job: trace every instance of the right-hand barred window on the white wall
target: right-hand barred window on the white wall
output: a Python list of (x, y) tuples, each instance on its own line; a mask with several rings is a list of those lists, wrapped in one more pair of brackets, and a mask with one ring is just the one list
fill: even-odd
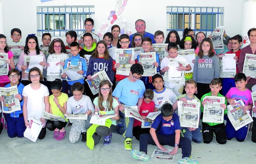
[(223, 7), (167, 6), (167, 33), (178, 31), (182, 36), (185, 28), (210, 35), (215, 27), (224, 25)]

